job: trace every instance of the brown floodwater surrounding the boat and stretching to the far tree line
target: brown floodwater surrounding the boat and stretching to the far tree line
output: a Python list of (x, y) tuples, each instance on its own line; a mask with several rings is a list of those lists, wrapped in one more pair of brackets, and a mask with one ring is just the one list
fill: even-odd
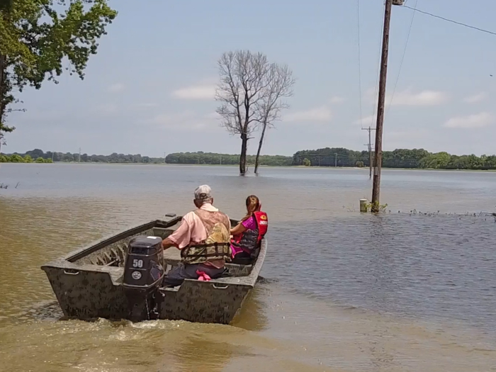
[[(1, 164), (0, 182), (0, 371), (496, 371), (496, 223), (478, 214), (496, 173), (384, 171), (380, 216), (356, 212), (354, 169)], [(204, 183), (230, 217), (256, 193), (271, 219), (232, 325), (58, 320), (40, 265), (185, 213)]]

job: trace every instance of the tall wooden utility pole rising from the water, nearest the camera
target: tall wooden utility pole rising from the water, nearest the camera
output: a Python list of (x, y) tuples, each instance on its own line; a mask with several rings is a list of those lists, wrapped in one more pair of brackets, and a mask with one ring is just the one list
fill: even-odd
[(379, 80), (379, 99), (377, 106), (376, 151), (374, 154), (375, 164), (373, 169), (372, 208), (371, 208), (372, 212), (379, 211), (379, 201), (381, 198), (381, 167), (383, 162), (385, 83), (388, 77), (389, 28), (391, 23), (391, 9), (393, 8), (393, 4), (403, 5), (403, 0), (385, 0), (383, 52), (381, 57), (381, 78)]

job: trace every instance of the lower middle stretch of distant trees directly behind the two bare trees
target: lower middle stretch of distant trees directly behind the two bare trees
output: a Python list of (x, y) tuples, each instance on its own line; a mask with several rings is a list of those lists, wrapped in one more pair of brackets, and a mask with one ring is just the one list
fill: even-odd
[[(247, 164), (254, 165), (255, 155), (247, 155)], [(176, 152), (165, 157), (167, 164), (219, 164), (235, 165), (239, 164), (239, 154), (215, 154), (213, 152)], [(259, 165), (266, 166), (291, 166), (293, 159), (281, 155), (260, 155)]]

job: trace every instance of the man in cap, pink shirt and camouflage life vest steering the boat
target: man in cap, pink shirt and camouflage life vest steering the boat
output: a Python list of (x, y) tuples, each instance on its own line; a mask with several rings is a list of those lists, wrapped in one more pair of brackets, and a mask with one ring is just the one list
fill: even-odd
[(213, 206), (212, 190), (198, 186), (196, 210), (184, 215), (181, 225), (162, 241), (162, 247), (181, 250), (181, 263), (164, 277), (164, 286), (179, 286), (184, 279), (218, 278), (231, 259), (230, 220)]

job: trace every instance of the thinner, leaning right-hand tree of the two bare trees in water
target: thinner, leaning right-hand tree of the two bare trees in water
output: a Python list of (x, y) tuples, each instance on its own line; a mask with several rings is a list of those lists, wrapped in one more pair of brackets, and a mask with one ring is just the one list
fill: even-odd
[(281, 120), (281, 112), (289, 108), (288, 103), (283, 101), (283, 98), (293, 96), (294, 84), (293, 72), (286, 64), (271, 64), (269, 72), (266, 74), (264, 95), (259, 103), (258, 117), (261, 135), (255, 158), (255, 173), (258, 173), (259, 169), (259, 157), (261, 146), (264, 144), (265, 132), (269, 128), (274, 128), (274, 122)]

